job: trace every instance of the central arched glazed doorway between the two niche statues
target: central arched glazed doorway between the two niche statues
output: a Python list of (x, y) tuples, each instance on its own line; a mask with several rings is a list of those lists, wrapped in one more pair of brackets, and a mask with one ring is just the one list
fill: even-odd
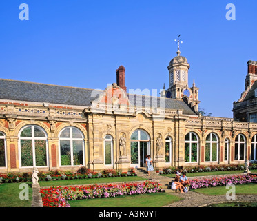
[(143, 130), (136, 130), (130, 137), (131, 163), (134, 167), (145, 166), (146, 155), (150, 155), (150, 137)]

